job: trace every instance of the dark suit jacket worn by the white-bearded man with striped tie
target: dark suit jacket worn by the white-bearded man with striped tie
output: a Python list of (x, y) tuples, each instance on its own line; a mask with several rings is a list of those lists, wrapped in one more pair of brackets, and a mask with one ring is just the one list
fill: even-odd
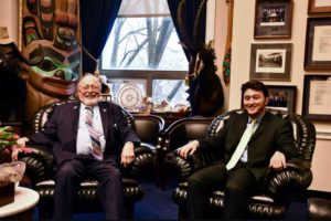
[[(57, 166), (76, 156), (79, 108), (79, 102), (54, 107), (43, 130), (30, 137), (34, 144), (52, 147)], [(127, 124), (120, 106), (100, 102), (99, 110), (106, 139), (104, 158), (116, 157), (118, 159), (126, 141), (132, 141), (135, 146), (140, 144), (139, 137)]]

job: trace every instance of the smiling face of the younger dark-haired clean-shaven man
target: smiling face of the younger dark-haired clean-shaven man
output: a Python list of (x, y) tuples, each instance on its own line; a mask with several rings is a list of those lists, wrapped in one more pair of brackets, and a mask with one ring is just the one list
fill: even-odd
[(266, 110), (268, 97), (265, 97), (261, 91), (247, 88), (243, 96), (244, 108), (252, 118), (261, 116)]

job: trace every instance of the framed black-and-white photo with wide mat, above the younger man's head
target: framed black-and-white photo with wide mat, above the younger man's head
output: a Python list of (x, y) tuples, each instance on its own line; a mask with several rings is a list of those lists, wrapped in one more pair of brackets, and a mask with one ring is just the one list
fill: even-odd
[(252, 44), (250, 80), (290, 81), (292, 44)]

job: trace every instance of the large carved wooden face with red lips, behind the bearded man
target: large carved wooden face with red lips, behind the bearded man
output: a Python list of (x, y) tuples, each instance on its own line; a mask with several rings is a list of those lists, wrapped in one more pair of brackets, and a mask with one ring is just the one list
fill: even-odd
[(54, 48), (50, 41), (38, 40), (25, 48), (23, 55), (30, 60), (39, 56), (39, 44), (42, 45), (43, 60), (35, 66), (26, 65), (31, 85), (51, 96), (74, 94), (79, 76), (81, 52), (61, 50)]

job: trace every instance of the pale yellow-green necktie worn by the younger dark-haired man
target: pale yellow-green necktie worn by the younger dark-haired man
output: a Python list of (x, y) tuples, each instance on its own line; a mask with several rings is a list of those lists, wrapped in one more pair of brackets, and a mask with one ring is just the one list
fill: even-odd
[(246, 127), (246, 130), (244, 131), (244, 134), (242, 136), (242, 139), (241, 139), (236, 150), (234, 151), (234, 154), (232, 155), (229, 161), (226, 165), (227, 170), (231, 170), (232, 168), (234, 168), (234, 166), (236, 166), (237, 161), (242, 157), (242, 155), (245, 151), (245, 148), (246, 148), (246, 146), (247, 146), (253, 133), (254, 133), (255, 125), (256, 125), (256, 119), (252, 119), (252, 122)]

